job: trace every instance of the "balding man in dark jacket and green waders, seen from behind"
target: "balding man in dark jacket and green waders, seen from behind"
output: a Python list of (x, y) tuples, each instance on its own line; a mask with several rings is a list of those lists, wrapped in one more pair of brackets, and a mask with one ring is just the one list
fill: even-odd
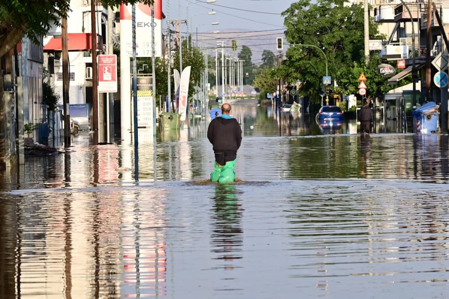
[(222, 115), (216, 117), (208, 129), (208, 139), (215, 153), (215, 170), (211, 173), (211, 181), (221, 184), (234, 181), (237, 149), (241, 144), (240, 125), (229, 116), (230, 112), (230, 105), (223, 104)]

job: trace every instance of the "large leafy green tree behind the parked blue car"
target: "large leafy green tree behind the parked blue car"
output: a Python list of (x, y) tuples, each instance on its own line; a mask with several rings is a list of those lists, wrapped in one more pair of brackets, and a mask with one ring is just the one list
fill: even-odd
[[(364, 35), (360, 29), (364, 24), (363, 5), (345, 6), (343, 0), (318, 0), (316, 3), (300, 0), (292, 3), (282, 15), (288, 42), (319, 47), (328, 59), (328, 75), (337, 81), (337, 85), (348, 79), (354, 61), (364, 58)], [(383, 37), (372, 19), (369, 26), (370, 38)], [(301, 93), (309, 94), (312, 100), (319, 102), (322, 77), (326, 74), (326, 59), (322, 52), (310, 46), (291, 46), (286, 56), (275, 75), (290, 82), (301, 79)]]

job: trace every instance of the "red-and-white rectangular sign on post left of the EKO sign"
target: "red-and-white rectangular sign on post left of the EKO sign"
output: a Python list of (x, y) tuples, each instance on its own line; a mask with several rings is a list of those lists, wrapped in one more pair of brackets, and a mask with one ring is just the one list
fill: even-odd
[(98, 55), (98, 92), (117, 92), (117, 55)]

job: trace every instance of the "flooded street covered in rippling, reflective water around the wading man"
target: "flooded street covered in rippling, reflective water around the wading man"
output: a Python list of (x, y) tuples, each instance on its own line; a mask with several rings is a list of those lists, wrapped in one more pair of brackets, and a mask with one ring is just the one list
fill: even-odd
[(232, 111), (234, 184), (201, 120), (0, 174), (0, 298), (448, 298), (449, 136)]

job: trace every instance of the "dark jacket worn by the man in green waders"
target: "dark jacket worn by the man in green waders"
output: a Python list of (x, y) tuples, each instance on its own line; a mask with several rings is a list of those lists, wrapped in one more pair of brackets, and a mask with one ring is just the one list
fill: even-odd
[(216, 117), (208, 129), (208, 139), (214, 152), (235, 154), (241, 144), (241, 129), (236, 119)]

